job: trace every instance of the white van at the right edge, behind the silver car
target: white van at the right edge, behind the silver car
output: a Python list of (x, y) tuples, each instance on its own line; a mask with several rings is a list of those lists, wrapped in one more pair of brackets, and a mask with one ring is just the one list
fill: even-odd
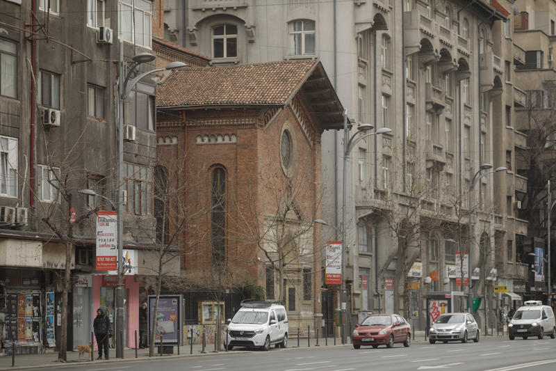
[(550, 306), (543, 306), (542, 301), (525, 301), (525, 306), (519, 307), (508, 324), (509, 340), (516, 336), (527, 339), (537, 336), (542, 339), (545, 335), (556, 338), (556, 323), (554, 312)]

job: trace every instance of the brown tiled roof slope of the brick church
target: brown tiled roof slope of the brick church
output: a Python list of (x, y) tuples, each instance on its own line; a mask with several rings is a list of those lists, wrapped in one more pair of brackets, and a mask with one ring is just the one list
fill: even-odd
[(175, 70), (156, 90), (157, 106), (284, 104), (318, 61), (282, 61)]

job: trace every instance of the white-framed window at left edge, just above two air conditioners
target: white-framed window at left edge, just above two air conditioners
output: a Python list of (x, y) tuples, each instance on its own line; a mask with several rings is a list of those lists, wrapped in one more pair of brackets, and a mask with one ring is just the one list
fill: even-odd
[(17, 139), (0, 136), (0, 196), (17, 197)]

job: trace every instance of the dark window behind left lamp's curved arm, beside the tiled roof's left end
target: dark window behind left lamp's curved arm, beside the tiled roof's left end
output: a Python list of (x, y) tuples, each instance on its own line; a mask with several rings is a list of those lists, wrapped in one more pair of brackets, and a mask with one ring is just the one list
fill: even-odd
[(154, 132), (154, 86), (138, 83), (124, 103), (124, 121), (138, 130)]

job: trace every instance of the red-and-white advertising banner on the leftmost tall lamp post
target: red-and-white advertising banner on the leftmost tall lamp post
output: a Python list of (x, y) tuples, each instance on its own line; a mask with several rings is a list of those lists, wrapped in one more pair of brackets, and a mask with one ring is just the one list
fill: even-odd
[(117, 213), (97, 213), (97, 271), (117, 270)]

